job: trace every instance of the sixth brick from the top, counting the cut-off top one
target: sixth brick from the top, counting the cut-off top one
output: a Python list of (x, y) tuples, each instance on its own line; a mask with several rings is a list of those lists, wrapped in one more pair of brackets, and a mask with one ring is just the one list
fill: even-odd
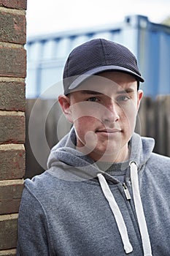
[(0, 145), (0, 180), (23, 178), (25, 161), (23, 145)]

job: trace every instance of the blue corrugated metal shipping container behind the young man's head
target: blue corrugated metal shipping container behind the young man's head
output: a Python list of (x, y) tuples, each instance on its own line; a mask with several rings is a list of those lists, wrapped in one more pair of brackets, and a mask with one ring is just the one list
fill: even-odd
[[(57, 97), (62, 92), (58, 82), (61, 82), (63, 65), (70, 51), (97, 37), (121, 43), (136, 55), (145, 78), (142, 85), (145, 95), (170, 94), (170, 27), (133, 15), (115, 25), (28, 38), (26, 97)], [(58, 83), (55, 89), (47, 90), (54, 83)]]

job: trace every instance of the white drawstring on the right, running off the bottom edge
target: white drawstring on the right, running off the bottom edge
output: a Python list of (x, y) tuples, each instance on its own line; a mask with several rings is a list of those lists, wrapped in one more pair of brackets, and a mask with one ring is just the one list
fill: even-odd
[(139, 192), (138, 171), (135, 162), (130, 162), (131, 167), (131, 184), (134, 195), (134, 206), (136, 209), (136, 215), (139, 223), (139, 230), (142, 237), (142, 246), (144, 250), (144, 256), (152, 256), (152, 249), (150, 245), (150, 237), (147, 230), (147, 223), (144, 217), (144, 209), (142, 206), (142, 200)]

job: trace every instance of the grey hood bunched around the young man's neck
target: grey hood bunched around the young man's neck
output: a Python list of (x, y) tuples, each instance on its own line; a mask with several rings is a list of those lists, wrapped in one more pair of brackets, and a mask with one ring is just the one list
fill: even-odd
[[(142, 165), (150, 158), (150, 154), (154, 148), (155, 142), (152, 138), (141, 138), (140, 135), (134, 133), (130, 142), (129, 148), (131, 151), (129, 162), (136, 162), (138, 170)], [(61, 168), (56, 173), (56, 167), (61, 167), (63, 173), (61, 174)], [(88, 168), (87, 168), (88, 167)], [(122, 163), (121, 170), (127, 167), (127, 163)], [(80, 180), (94, 178), (98, 174), (98, 166), (96, 163), (82, 152), (76, 149), (76, 134), (74, 127), (72, 127), (69, 134), (55, 145), (50, 151), (50, 156), (47, 161), (47, 168), (50, 172), (55, 173), (58, 178), (76, 178)], [(53, 171), (55, 169), (55, 172)], [(82, 170), (82, 172), (80, 171)], [(69, 171), (69, 173), (67, 173)], [(109, 174), (100, 172), (110, 178)], [(73, 173), (73, 175), (71, 175)], [(67, 177), (68, 176), (68, 177)], [(79, 178), (78, 178), (79, 177)], [(64, 179), (65, 179), (64, 178)], [(111, 178), (112, 179), (112, 178)], [(115, 181), (117, 183), (117, 181)]]

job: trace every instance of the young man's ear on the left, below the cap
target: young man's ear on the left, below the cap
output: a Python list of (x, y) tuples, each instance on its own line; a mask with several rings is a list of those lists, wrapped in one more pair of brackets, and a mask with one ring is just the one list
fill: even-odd
[(72, 111), (70, 110), (70, 98), (66, 97), (66, 95), (60, 95), (60, 96), (58, 96), (58, 102), (61, 105), (63, 113), (66, 116), (66, 119), (70, 123), (73, 123), (73, 121), (72, 121)]

